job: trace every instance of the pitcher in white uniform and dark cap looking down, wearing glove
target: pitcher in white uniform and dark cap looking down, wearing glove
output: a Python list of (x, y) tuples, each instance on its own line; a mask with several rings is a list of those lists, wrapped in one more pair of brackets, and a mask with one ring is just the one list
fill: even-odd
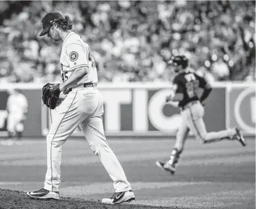
[(97, 89), (97, 69), (88, 44), (72, 32), (70, 17), (50, 12), (42, 19), (45, 35), (55, 42), (62, 41), (60, 74), (63, 83), (47, 83), (42, 88), (42, 100), (55, 109), (47, 142), (47, 172), (44, 188), (28, 192), (36, 199), (59, 199), (60, 162), (62, 145), (79, 126), (90, 148), (98, 155), (106, 171), (114, 181), (115, 193), (102, 199), (105, 204), (129, 202), (135, 198), (123, 168), (112, 152), (103, 130), (103, 98)]

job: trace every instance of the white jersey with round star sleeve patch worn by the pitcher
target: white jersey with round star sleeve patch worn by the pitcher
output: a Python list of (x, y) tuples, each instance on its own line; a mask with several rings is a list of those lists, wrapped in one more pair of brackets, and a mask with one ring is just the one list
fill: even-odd
[(73, 71), (81, 66), (87, 66), (89, 70), (88, 74), (86, 74), (77, 84), (97, 83), (97, 69), (90, 47), (79, 35), (75, 32), (70, 32), (63, 41), (62, 52), (60, 55), (62, 81), (67, 81)]

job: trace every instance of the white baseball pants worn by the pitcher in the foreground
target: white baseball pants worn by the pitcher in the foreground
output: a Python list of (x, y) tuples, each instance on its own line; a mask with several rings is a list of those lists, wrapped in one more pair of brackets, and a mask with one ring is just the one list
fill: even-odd
[[(78, 90), (77, 90), (78, 89)], [(60, 163), (62, 145), (80, 126), (90, 148), (99, 156), (103, 166), (114, 181), (115, 192), (131, 189), (123, 168), (111, 150), (104, 135), (102, 114), (103, 98), (94, 87), (81, 87), (72, 90), (57, 107), (47, 142), (47, 172), (44, 188), (58, 191), (60, 183)]]

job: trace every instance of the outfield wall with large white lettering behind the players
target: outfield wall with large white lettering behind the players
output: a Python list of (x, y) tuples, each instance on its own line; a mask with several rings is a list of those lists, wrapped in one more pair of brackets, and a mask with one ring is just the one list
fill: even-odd
[[(41, 102), (41, 85), (19, 83), (0, 85), (0, 136), (6, 136), (6, 103), (8, 88), (23, 90), (28, 99), (28, 117), (24, 136), (47, 135), (51, 125), (50, 111)], [(255, 136), (255, 83), (212, 83), (213, 91), (206, 101), (207, 131), (238, 126)], [(179, 108), (166, 104), (168, 83), (99, 83), (104, 97), (103, 115), (107, 136), (173, 136), (181, 122)], [(79, 128), (73, 136), (82, 136)]]

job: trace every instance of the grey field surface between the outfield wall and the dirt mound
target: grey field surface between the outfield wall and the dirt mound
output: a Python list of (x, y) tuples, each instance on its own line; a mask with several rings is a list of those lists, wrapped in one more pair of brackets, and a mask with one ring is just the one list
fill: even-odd
[[(119, 139), (109, 140), (109, 144), (136, 195), (136, 201), (129, 203), (131, 208), (144, 204), (246, 209), (255, 208), (255, 138), (247, 139), (245, 148), (238, 141), (203, 145), (188, 140), (174, 176), (155, 166), (155, 161), (169, 158), (173, 139)], [(0, 188), (20, 191), (42, 188), (46, 172), (45, 140), (24, 140), (21, 146), (0, 145), (0, 164)], [(111, 197), (112, 193), (111, 179), (88, 143), (68, 140), (63, 146), (60, 195), (98, 201)]]

